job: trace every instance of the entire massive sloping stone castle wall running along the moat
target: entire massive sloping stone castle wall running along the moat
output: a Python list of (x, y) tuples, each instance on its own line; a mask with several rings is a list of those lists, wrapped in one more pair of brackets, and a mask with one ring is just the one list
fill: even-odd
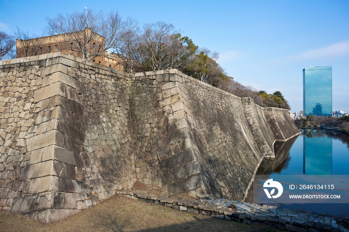
[(0, 61), (0, 209), (58, 221), (138, 180), (243, 200), (275, 141), (299, 134), (178, 70), (129, 74), (64, 53)]

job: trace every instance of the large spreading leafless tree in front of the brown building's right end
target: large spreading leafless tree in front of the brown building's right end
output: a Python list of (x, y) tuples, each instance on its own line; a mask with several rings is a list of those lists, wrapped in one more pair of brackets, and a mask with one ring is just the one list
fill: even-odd
[(132, 18), (123, 20), (118, 11), (104, 14), (87, 9), (86, 12), (74, 11), (72, 14), (58, 14), (55, 18), (47, 17), (46, 21), (48, 34), (59, 34), (57, 42), (62, 47), (77, 52), (87, 60), (116, 47), (136, 26)]

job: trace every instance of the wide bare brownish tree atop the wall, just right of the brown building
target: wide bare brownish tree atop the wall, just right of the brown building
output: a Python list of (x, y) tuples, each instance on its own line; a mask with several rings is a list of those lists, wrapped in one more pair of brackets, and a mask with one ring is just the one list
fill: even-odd
[(125, 70), (142, 72), (168, 68), (183, 71), (198, 47), (188, 37), (181, 37), (172, 24), (157, 22), (131, 31), (114, 48)]

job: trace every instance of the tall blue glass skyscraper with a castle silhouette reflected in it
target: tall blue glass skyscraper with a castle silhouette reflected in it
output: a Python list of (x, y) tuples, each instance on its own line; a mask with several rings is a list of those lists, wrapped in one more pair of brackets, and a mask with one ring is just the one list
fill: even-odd
[(332, 66), (303, 69), (304, 114), (332, 116)]

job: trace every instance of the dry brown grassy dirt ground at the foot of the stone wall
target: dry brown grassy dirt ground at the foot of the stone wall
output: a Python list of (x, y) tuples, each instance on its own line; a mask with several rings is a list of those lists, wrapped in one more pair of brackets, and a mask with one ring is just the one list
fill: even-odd
[[(159, 194), (136, 183), (132, 191)], [(187, 197), (187, 196), (185, 196)], [(189, 214), (168, 207), (131, 200), (121, 195), (98, 203), (70, 218), (50, 225), (22, 215), (0, 211), (2, 232), (276, 232), (267, 226), (251, 226), (209, 216)]]

